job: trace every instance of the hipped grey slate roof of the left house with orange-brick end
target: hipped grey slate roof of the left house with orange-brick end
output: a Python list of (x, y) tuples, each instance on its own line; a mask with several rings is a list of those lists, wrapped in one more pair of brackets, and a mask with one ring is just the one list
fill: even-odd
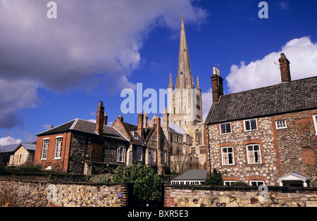
[[(46, 130), (42, 133), (37, 134), (37, 136), (44, 136), (49, 134), (58, 134), (66, 131), (77, 131), (77, 132), (84, 132), (87, 134), (94, 134), (97, 135), (95, 131), (96, 123), (89, 122), (87, 120), (75, 119), (71, 120), (70, 122), (66, 122), (63, 125), (59, 125), (58, 127), (54, 127), (53, 129)], [(109, 137), (113, 139), (120, 139), (123, 141), (128, 141), (123, 134), (120, 134), (118, 130), (114, 127), (110, 127), (108, 125), (104, 125), (104, 137)]]

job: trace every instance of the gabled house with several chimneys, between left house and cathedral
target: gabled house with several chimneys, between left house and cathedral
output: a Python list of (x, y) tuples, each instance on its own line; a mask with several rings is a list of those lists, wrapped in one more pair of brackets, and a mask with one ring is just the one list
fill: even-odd
[(130, 139), (127, 149), (127, 164), (142, 163), (158, 168), (161, 174), (170, 172), (170, 146), (161, 127), (161, 119), (148, 125), (147, 114), (139, 113), (137, 125), (123, 121), (120, 115), (113, 123), (121, 134)]

